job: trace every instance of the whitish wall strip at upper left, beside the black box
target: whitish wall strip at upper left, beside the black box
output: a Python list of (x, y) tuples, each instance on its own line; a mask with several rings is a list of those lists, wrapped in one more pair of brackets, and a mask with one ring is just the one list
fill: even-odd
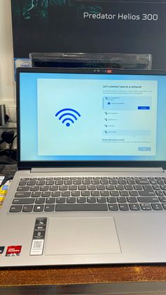
[(15, 106), (11, 0), (0, 0), (0, 103)]

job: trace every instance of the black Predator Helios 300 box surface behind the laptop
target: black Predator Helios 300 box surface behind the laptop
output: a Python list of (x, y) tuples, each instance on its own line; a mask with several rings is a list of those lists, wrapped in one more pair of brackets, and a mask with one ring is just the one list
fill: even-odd
[[(15, 58), (31, 52), (152, 54), (153, 68), (166, 69), (166, 3), (48, 0), (45, 18), (25, 20), (32, 0), (11, 0)], [(83, 19), (89, 13), (158, 14), (158, 20)]]

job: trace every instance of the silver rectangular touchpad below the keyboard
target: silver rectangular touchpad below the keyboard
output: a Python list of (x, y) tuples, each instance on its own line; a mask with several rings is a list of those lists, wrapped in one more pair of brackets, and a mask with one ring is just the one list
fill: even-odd
[(113, 217), (49, 218), (46, 255), (121, 253)]

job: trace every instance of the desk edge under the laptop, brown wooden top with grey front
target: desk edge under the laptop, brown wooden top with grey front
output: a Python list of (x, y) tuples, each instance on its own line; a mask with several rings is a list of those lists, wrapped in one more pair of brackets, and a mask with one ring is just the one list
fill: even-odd
[[(116, 292), (115, 292), (116, 291)], [(0, 294), (134, 294), (164, 291), (166, 265), (97, 265), (0, 270)], [(125, 292), (125, 293), (122, 293)], [(128, 292), (128, 293), (126, 293)], [(148, 293), (149, 294), (149, 293)]]

